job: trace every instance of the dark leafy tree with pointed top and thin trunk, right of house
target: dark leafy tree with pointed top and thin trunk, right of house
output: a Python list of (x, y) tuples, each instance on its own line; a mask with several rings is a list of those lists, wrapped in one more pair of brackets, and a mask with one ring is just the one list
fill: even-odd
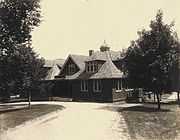
[(139, 38), (133, 41), (126, 53), (125, 68), (133, 87), (153, 91), (160, 109), (160, 94), (170, 90), (170, 75), (177, 61), (179, 41), (170, 25), (163, 22), (163, 12), (157, 12), (150, 23), (150, 30), (138, 32)]

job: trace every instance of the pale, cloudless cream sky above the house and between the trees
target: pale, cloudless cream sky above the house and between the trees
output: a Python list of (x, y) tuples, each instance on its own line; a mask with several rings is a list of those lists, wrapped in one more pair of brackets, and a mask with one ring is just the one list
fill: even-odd
[(127, 48), (137, 31), (148, 29), (158, 9), (164, 22), (175, 21), (180, 36), (180, 0), (41, 0), (42, 23), (33, 35), (34, 50), (45, 59), (88, 55), (104, 40), (111, 50)]

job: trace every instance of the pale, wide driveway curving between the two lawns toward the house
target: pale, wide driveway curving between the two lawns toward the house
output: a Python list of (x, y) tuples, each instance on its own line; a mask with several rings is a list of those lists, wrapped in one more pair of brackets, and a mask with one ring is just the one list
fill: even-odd
[[(57, 103), (56, 103), (57, 104)], [(58, 103), (63, 111), (10, 130), (3, 140), (127, 140), (123, 117), (105, 104)]]

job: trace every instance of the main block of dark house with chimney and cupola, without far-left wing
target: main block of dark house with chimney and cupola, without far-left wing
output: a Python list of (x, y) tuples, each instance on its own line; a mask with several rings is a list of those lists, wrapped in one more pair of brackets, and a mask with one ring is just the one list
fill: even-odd
[(121, 71), (121, 52), (111, 51), (104, 43), (100, 51), (89, 50), (89, 56), (69, 55), (55, 77), (53, 96), (112, 102), (124, 100), (127, 87)]

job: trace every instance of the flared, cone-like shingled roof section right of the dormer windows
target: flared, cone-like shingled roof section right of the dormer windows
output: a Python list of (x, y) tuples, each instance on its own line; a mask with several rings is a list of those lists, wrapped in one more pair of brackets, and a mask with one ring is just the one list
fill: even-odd
[(92, 75), (90, 79), (107, 79), (107, 78), (120, 78), (123, 76), (121, 72), (112, 62), (111, 54), (109, 51), (104, 52), (106, 62), (102, 65), (97, 73)]

